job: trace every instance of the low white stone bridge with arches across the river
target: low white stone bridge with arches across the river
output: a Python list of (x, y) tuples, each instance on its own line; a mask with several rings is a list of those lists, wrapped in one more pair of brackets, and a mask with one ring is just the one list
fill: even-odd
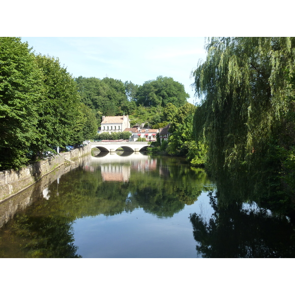
[(100, 151), (112, 152), (118, 148), (122, 148), (125, 151), (140, 151), (146, 150), (148, 147), (148, 142), (91, 142), (91, 148), (98, 148)]

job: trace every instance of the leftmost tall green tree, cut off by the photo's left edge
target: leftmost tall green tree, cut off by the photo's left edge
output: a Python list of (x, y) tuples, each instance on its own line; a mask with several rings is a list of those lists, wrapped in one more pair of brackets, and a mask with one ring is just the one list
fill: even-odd
[(0, 169), (18, 169), (37, 142), (42, 73), (20, 38), (0, 37)]

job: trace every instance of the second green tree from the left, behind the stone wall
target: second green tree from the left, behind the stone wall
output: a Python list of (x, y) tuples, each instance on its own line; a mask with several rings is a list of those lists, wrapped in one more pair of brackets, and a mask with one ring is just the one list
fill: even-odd
[(36, 61), (43, 72), (46, 95), (39, 109), (38, 143), (31, 148), (81, 143), (84, 120), (74, 79), (60, 66), (59, 59), (38, 55)]

